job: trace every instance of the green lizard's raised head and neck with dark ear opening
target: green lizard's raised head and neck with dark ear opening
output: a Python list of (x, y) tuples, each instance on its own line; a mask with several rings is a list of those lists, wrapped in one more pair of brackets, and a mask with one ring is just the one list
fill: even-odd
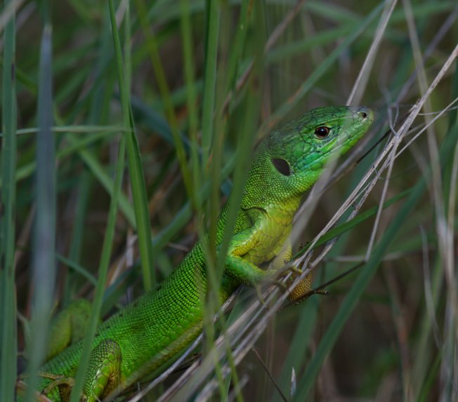
[[(351, 149), (373, 119), (368, 107), (319, 107), (267, 135), (256, 147), (247, 178), (247, 188), (257, 188), (253, 195), (261, 202), (253, 206), (300, 200), (327, 163)], [(251, 199), (245, 192), (242, 206), (249, 207)]]

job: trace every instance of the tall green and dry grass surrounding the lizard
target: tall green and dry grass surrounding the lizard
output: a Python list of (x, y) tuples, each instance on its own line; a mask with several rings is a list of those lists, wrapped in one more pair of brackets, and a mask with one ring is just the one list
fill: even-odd
[[(456, 1), (5, 0), (0, 13), (1, 401), (17, 373), (35, 384), (53, 311), (86, 298), (80, 389), (98, 321), (206, 233), (203, 335), (125, 400), (458, 400)], [(376, 119), (293, 233), (292, 263), (329, 296), (289, 306), (277, 287), (244, 288), (218, 310), (254, 144), (346, 104)]]

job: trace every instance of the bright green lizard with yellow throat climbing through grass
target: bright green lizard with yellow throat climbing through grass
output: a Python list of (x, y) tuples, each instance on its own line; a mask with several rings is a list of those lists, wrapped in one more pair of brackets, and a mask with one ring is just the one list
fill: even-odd
[[(289, 234), (301, 198), (329, 159), (351, 149), (372, 123), (367, 107), (313, 109), (266, 136), (254, 152), (221, 281), (221, 304), (245, 284), (277, 278), (291, 258)], [(221, 241), (227, 203), (217, 222)], [(286, 246), (285, 246), (286, 245)], [(272, 262), (273, 269), (263, 269)], [(82, 401), (96, 401), (158, 372), (202, 330), (202, 295), (207, 272), (197, 244), (159, 288), (139, 297), (101, 324), (93, 340)], [(310, 275), (290, 300), (310, 290)], [(67, 347), (41, 369), (39, 390), (52, 401), (68, 401), (82, 343)], [(19, 397), (20, 398), (20, 397)]]

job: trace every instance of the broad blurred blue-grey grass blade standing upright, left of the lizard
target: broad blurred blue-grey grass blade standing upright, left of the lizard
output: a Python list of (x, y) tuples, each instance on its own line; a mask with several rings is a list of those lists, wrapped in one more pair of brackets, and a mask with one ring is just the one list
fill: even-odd
[(52, 35), (51, 25), (46, 23), (41, 39), (40, 76), (38, 93), (37, 134), (37, 218), (34, 232), (34, 309), (32, 328), (34, 342), (30, 350), (27, 401), (34, 399), (37, 371), (44, 361), (48, 337), (48, 321), (53, 307), (55, 284), (55, 139), (52, 97)]

